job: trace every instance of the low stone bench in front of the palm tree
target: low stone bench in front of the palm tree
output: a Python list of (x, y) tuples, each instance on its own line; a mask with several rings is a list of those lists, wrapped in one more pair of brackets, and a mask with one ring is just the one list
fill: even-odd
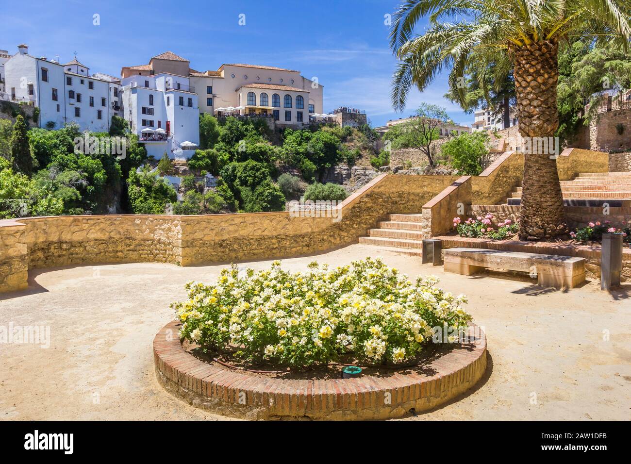
[(471, 275), (484, 268), (528, 272), (541, 287), (573, 289), (585, 282), (585, 258), (555, 254), (480, 248), (449, 248), (444, 251), (444, 270)]

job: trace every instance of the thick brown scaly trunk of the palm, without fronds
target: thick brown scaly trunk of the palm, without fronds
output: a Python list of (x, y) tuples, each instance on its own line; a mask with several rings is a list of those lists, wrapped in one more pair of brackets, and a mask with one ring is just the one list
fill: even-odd
[[(567, 234), (563, 196), (558, 182), (553, 136), (558, 128), (557, 40), (512, 45), (519, 133), (524, 138), (524, 180), (521, 195), (522, 239), (551, 239)], [(548, 139), (550, 138), (550, 139)], [(543, 149), (542, 149), (543, 148)], [(557, 147), (558, 148), (558, 147)]]

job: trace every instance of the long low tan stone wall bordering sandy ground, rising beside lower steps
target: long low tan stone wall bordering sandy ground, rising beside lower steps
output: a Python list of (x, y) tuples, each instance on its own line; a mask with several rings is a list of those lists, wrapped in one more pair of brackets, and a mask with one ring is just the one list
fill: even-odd
[(319, 253), (357, 242), (390, 213), (420, 211), (456, 179), (382, 174), (343, 201), (335, 217), (281, 211), (3, 220), (0, 291), (25, 288), (33, 268), (139, 261), (190, 266)]

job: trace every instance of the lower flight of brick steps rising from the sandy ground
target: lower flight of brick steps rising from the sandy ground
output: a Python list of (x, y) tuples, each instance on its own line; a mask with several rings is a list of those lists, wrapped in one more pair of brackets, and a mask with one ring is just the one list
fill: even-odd
[(369, 236), (360, 237), (359, 242), (378, 246), (380, 249), (421, 256), (424, 226), (422, 214), (391, 214), (389, 220), (379, 222), (379, 229), (370, 229)]

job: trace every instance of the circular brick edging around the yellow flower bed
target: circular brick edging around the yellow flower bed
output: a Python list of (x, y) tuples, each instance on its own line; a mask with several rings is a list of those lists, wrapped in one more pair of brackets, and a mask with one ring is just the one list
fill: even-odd
[(153, 340), (156, 377), (165, 390), (194, 407), (242, 419), (392, 419), (445, 403), (473, 387), (487, 368), (487, 338), (455, 348), (424, 366), (391, 376), (293, 380), (261, 378), (203, 362), (182, 348), (179, 321)]

